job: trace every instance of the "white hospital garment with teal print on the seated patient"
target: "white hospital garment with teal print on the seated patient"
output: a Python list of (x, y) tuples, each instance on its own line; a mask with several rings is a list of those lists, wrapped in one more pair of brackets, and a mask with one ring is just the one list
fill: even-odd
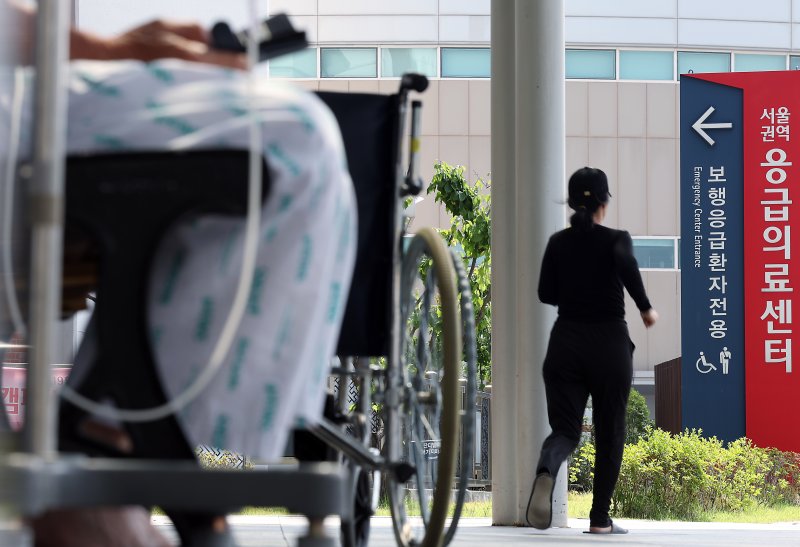
[[(70, 70), (67, 147), (246, 149), (251, 105), (271, 179), (253, 283), (221, 370), (179, 421), (194, 444), (273, 459), (292, 425), (321, 415), (355, 259), (355, 197), (333, 115), (274, 80), (248, 88), (239, 71), (81, 61)], [(149, 326), (170, 397), (209, 361), (236, 292), (243, 236), (243, 219), (207, 216), (173, 229), (158, 251)]]

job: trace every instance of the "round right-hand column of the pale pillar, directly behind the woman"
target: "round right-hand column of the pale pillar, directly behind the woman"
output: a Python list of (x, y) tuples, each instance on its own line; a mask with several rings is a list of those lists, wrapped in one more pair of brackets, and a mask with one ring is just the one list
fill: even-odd
[[(517, 409), (519, 515), (524, 519), (539, 450), (550, 433), (542, 364), (555, 310), (537, 297), (547, 240), (565, 224), (564, 0), (517, 0)], [(566, 526), (566, 466), (553, 526)]]

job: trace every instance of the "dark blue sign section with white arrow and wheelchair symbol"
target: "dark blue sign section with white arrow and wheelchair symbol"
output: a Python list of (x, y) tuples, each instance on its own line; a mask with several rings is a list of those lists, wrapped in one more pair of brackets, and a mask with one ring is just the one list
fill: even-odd
[(683, 428), (745, 435), (742, 90), (681, 76)]

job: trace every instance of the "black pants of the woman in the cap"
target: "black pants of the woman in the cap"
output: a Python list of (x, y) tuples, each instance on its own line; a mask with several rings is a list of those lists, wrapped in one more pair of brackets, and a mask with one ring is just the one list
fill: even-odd
[(544, 361), (547, 415), (553, 432), (545, 439), (537, 473), (555, 476), (578, 446), (583, 413), (592, 396), (595, 467), (591, 526), (608, 526), (611, 495), (625, 447), (625, 410), (633, 376), (633, 342), (622, 321), (577, 323), (559, 319)]

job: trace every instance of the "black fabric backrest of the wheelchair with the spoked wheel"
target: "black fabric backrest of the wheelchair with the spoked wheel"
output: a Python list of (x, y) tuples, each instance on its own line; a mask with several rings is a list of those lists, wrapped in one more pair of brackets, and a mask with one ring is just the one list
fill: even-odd
[(391, 322), (392, 212), (399, 199), (397, 95), (320, 92), (344, 139), (358, 202), (358, 248), (337, 353), (388, 355)]

